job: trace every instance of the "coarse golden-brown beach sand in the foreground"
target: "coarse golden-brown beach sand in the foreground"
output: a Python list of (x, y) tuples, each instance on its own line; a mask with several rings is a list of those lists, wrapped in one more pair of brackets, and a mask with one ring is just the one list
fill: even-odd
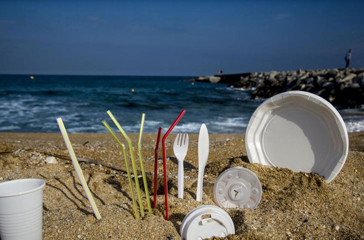
[[(215, 179), (224, 170), (243, 166), (257, 174), (263, 188), (260, 205), (252, 209), (225, 209), (236, 235), (227, 239), (364, 239), (364, 132), (349, 134), (349, 154), (339, 175), (327, 184), (314, 173), (251, 164), (244, 135), (211, 134), (205, 168), (203, 202), (195, 201), (198, 135), (191, 134), (185, 159), (184, 199), (177, 198), (175, 134), (167, 139), (170, 221), (164, 219), (162, 160), (158, 161), (158, 207), (135, 220), (124, 172), (98, 164), (81, 167), (98, 205), (96, 220), (68, 158), (60, 133), (0, 133), (0, 181), (40, 178), (46, 181), (43, 204), (43, 239), (181, 239), (179, 227), (197, 206), (216, 205)], [(137, 134), (131, 134), (134, 147)], [(121, 148), (110, 134), (70, 134), (78, 157), (124, 168)], [(156, 135), (143, 135), (146, 172), (154, 171)], [(135, 148), (135, 155), (137, 155)], [(58, 163), (46, 163), (51, 155)], [(162, 156), (160, 147), (159, 156)], [(81, 161), (80, 161), (81, 162)], [(138, 164), (139, 166), (139, 164)], [(140, 169), (140, 167), (139, 167)], [(146, 207), (142, 178), (139, 178)], [(153, 175), (148, 175), (153, 200)], [(215, 238), (217, 239), (217, 238)]]

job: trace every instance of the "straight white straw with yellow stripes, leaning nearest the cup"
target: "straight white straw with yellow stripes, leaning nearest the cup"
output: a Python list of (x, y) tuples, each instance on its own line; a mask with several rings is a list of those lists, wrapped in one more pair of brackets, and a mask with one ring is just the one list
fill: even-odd
[(76, 170), (77, 176), (80, 179), (80, 182), (82, 184), (83, 190), (86, 193), (86, 196), (88, 198), (88, 201), (90, 201), (90, 204), (91, 204), (92, 210), (94, 211), (94, 214), (95, 214), (96, 219), (99, 220), (99, 219), (101, 219), (101, 215), (99, 213), (99, 209), (97, 209), (96, 203), (94, 201), (94, 198), (91, 195), (90, 189), (88, 189), (87, 182), (85, 181), (85, 178), (83, 176), (83, 173), (82, 173), (82, 170), (80, 168), (80, 165), (78, 164), (76, 154), (75, 154), (75, 152), (74, 152), (74, 150), (72, 148), (71, 141), (70, 141), (70, 138), (68, 137), (66, 128), (63, 125), (62, 118), (57, 118), (57, 123), (58, 123), (59, 129), (61, 130), (64, 143), (66, 143), (66, 146), (67, 146), (67, 149), (68, 149), (68, 153), (71, 156), (72, 164), (73, 164), (73, 166), (74, 166), (74, 168)]

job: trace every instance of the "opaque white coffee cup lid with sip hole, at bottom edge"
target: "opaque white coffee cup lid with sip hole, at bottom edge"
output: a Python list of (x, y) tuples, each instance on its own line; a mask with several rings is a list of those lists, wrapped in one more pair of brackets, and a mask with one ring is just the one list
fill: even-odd
[(213, 205), (199, 206), (189, 212), (179, 229), (182, 239), (202, 240), (210, 237), (226, 237), (235, 233), (231, 217)]

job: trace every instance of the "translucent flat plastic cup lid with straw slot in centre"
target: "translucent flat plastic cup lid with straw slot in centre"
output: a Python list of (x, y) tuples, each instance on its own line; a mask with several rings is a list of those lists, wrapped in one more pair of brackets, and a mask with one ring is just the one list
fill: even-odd
[(214, 185), (215, 202), (222, 208), (256, 208), (262, 185), (255, 173), (243, 167), (225, 170)]

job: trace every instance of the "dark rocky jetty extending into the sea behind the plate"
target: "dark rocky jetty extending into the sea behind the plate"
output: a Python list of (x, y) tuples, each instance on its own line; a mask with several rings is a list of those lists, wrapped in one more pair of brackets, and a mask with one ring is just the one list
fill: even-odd
[(214, 77), (194, 80), (251, 89), (252, 99), (300, 90), (317, 94), (337, 108), (361, 108), (364, 105), (364, 68), (248, 72)]

